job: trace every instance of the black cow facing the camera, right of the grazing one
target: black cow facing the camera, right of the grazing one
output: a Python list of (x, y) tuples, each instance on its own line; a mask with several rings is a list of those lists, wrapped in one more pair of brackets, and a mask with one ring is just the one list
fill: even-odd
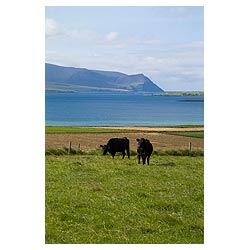
[(136, 139), (138, 143), (137, 147), (137, 156), (138, 156), (138, 164), (140, 164), (140, 159), (142, 158), (142, 164), (144, 165), (147, 159), (147, 163), (149, 165), (149, 158), (153, 152), (153, 145), (147, 139), (141, 138)]

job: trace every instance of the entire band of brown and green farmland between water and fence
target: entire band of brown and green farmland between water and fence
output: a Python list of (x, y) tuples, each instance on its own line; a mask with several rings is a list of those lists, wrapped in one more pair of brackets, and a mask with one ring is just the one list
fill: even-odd
[(111, 137), (127, 137), (131, 149), (136, 149), (136, 138), (149, 139), (156, 150), (186, 149), (192, 143), (193, 149), (203, 150), (204, 131), (201, 127), (184, 128), (155, 128), (155, 127), (108, 127), (108, 128), (79, 128), (79, 127), (46, 127), (46, 149), (72, 147), (83, 151), (95, 150), (100, 144), (105, 144)]

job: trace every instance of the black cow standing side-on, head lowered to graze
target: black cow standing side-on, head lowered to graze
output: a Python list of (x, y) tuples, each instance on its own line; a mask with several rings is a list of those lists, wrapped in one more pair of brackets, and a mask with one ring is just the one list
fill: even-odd
[(111, 138), (107, 145), (100, 145), (103, 151), (103, 155), (106, 155), (109, 152), (112, 157), (115, 157), (116, 152), (122, 152), (122, 159), (125, 156), (125, 150), (127, 151), (128, 158), (130, 157), (129, 152), (129, 139), (124, 138)]

